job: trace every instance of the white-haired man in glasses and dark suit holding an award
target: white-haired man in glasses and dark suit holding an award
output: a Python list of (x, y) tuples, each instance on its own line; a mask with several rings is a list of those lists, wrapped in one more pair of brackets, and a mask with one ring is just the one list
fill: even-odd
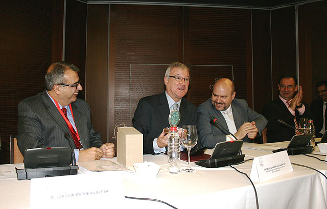
[(164, 129), (169, 127), (168, 117), (173, 109), (179, 110), (182, 125), (195, 125), (196, 107), (183, 98), (190, 84), (189, 68), (182, 63), (172, 63), (165, 74), (166, 91), (141, 98), (133, 117), (133, 127), (143, 134), (143, 152), (156, 154), (166, 152), (169, 134)]

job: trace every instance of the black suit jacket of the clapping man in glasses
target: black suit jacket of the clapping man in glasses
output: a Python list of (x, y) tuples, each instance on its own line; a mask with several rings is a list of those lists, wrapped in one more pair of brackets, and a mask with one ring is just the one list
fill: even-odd
[[(302, 102), (306, 107), (305, 113), (299, 115), (298, 111), (295, 109), (295, 116), (297, 123), (299, 123), (300, 118), (309, 118), (312, 119), (313, 115), (309, 110), (309, 106)], [(295, 129), (290, 128), (286, 125), (277, 123), (278, 119), (282, 119), (287, 124), (295, 127), (294, 116), (287, 109), (284, 102), (278, 98), (273, 101), (270, 101), (264, 105), (263, 115), (268, 120), (267, 125), (267, 142), (282, 142), (289, 141), (295, 135)]]

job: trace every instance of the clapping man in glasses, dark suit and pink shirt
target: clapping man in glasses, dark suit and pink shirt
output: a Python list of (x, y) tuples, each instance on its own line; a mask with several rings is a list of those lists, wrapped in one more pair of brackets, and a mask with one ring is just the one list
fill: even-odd
[[(266, 103), (263, 108), (263, 115), (268, 120), (268, 143), (291, 140), (295, 134), (299, 134), (294, 128), (298, 128), (300, 118), (313, 119), (309, 106), (302, 102), (302, 87), (298, 87), (295, 76), (283, 75), (279, 79), (278, 90), (279, 97)], [(295, 92), (297, 92), (296, 95)], [(277, 123), (278, 119), (283, 120), (294, 128)]]

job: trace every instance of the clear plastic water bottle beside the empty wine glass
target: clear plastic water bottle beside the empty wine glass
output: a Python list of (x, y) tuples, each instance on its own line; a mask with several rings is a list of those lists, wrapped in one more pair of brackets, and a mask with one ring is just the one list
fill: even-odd
[(171, 133), (168, 137), (168, 172), (179, 173), (180, 170), (180, 139), (177, 127), (170, 127)]

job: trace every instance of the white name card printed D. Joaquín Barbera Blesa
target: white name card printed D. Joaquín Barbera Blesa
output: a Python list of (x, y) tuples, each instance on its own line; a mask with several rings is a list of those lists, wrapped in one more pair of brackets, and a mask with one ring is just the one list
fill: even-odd
[(120, 171), (31, 179), (31, 208), (120, 208)]

